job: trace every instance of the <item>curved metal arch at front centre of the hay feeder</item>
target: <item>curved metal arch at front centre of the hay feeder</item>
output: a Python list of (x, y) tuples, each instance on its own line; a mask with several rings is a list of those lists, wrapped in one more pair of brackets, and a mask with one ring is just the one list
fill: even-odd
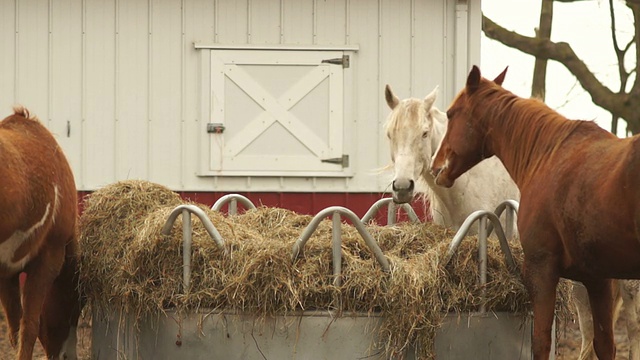
[[(314, 216), (313, 219), (311, 219), (311, 222), (309, 223), (309, 225), (307, 225), (307, 227), (302, 231), (302, 234), (300, 235), (298, 240), (296, 240), (296, 242), (293, 244), (291, 260), (295, 261), (298, 258), (298, 256), (301, 255), (304, 245), (307, 243), (307, 240), (309, 240), (313, 232), (316, 231), (320, 222), (327, 216), (332, 215), (334, 213), (338, 213), (342, 216), (347, 217), (349, 220), (351, 220), (356, 230), (358, 230), (358, 233), (360, 234), (360, 236), (364, 239), (369, 249), (371, 249), (371, 251), (373, 252), (374, 257), (376, 258), (380, 266), (382, 266), (382, 269), (386, 272), (389, 272), (389, 260), (382, 253), (382, 250), (378, 246), (378, 243), (376, 243), (376, 241), (367, 232), (367, 229), (365, 228), (364, 224), (356, 216), (356, 214), (353, 211), (342, 206), (330, 206), (328, 208), (325, 208), (321, 210), (318, 214), (316, 214), (316, 216)], [(339, 226), (337, 226), (337, 228), (339, 228)], [(335, 222), (334, 222), (334, 231), (336, 231)], [(338, 261), (338, 260), (339, 259), (336, 259), (334, 257), (334, 261)], [(334, 274), (334, 275), (339, 276), (340, 274)]]

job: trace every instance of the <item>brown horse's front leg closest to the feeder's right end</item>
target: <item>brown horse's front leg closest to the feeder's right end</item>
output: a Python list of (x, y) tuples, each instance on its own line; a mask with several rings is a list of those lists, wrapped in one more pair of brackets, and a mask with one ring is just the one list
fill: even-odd
[(533, 258), (527, 259), (525, 253), (523, 266), (524, 283), (533, 303), (533, 359), (548, 360), (560, 276), (552, 262), (542, 261), (539, 256)]

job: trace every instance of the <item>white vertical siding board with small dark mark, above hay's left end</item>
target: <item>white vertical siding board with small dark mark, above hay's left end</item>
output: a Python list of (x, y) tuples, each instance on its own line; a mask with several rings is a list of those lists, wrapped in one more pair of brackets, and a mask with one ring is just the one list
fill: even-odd
[(50, 130), (80, 182), (82, 132), (82, 2), (56, 0), (51, 19)]

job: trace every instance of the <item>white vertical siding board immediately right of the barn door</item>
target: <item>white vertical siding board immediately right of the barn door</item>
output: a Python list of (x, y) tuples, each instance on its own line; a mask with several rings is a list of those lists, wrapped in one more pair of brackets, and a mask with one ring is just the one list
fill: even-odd
[[(355, 152), (352, 155), (354, 163), (364, 169), (361, 177), (354, 179), (355, 188), (363, 188), (363, 184), (384, 184), (373, 186), (384, 188), (386, 186), (386, 174), (378, 174), (374, 170), (381, 164), (389, 162), (389, 157), (379, 159), (377, 147), (370, 144), (377, 143), (380, 139), (380, 104), (383, 99), (383, 91), (378, 79), (378, 2), (374, 1), (349, 1), (350, 28), (348, 30), (351, 44), (358, 44), (360, 51), (354, 55), (356, 61), (353, 65), (354, 79), (354, 106), (352, 121), (353, 138), (345, 139), (354, 144)], [(384, 113), (386, 114), (386, 112)], [(387, 145), (388, 147), (388, 145)], [(385, 149), (387, 148), (385, 147)], [(357, 183), (356, 183), (357, 181)]]

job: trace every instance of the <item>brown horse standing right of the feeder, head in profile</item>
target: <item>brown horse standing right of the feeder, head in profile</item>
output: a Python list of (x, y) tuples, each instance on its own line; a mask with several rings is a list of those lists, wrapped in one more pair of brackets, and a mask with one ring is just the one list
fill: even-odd
[[(505, 70), (506, 72), (506, 70)], [(505, 90), (473, 67), (447, 111), (436, 183), (498, 156), (521, 193), (523, 277), (533, 303), (534, 359), (551, 350), (556, 285), (587, 288), (600, 359), (614, 359), (611, 278), (640, 278), (640, 137), (619, 139)], [(496, 83), (497, 82), (497, 83)]]

